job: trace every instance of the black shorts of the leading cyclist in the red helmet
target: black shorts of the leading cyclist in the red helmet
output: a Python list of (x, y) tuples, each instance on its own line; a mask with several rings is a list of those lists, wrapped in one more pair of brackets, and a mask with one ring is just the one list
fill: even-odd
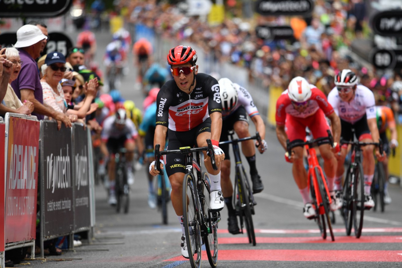
[[(197, 137), (203, 132), (211, 132), (211, 118), (207, 118), (203, 123), (189, 131), (173, 131), (168, 129), (169, 145), (167, 150), (177, 150), (180, 147), (197, 146)], [(165, 155), (165, 169), (168, 176), (176, 172), (186, 172), (185, 155), (181, 153), (171, 153)]]

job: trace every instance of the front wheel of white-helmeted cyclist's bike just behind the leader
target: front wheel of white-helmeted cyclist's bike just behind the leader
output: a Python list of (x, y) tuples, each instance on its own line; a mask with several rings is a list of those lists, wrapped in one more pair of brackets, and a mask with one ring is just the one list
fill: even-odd
[(256, 245), (255, 240), (255, 232), (254, 232), (254, 224), (252, 221), (252, 213), (250, 206), (250, 198), (249, 198), (249, 189), (246, 188), (245, 180), (247, 177), (244, 176), (244, 173), (239, 168), (236, 168), (236, 181), (238, 182), (238, 191), (240, 196), (240, 203), (242, 204), (240, 207), (242, 209), (242, 216), (244, 223), (246, 225), (246, 231), (248, 236), (248, 242), (252, 243), (253, 246)]

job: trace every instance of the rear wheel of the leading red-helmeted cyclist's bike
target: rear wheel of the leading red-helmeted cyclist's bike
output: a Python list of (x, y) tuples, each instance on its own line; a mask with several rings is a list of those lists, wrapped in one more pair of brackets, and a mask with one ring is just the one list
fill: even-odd
[[(212, 222), (215, 221), (214, 215), (218, 215), (218, 212), (209, 213), (211, 202), (209, 196), (209, 193), (211, 192), (211, 180), (209, 179), (207, 172), (202, 173), (202, 178), (204, 182), (202, 192), (205, 197), (205, 200), (203, 202), (203, 215), (205, 224), (209, 229), (209, 232), (204, 234), (205, 250), (207, 251), (209, 265), (211, 265), (212, 268), (215, 268), (218, 262), (218, 225), (217, 223), (213, 225)], [(212, 219), (210, 218), (210, 216)]]

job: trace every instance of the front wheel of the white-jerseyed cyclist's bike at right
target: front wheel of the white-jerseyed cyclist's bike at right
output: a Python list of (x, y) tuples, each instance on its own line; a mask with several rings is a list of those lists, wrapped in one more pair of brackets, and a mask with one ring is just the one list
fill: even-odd
[(364, 177), (363, 177), (363, 165), (359, 163), (355, 169), (355, 181), (353, 183), (355, 202), (353, 202), (353, 225), (355, 228), (355, 236), (359, 238), (361, 236), (361, 229), (363, 229), (363, 217), (364, 217)]

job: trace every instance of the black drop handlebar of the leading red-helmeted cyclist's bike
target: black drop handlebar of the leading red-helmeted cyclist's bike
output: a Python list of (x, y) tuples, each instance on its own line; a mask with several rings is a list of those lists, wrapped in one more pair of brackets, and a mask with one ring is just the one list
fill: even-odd
[(160, 157), (162, 155), (167, 155), (170, 153), (181, 153), (181, 154), (188, 154), (188, 153), (194, 153), (194, 152), (199, 152), (199, 151), (207, 151), (207, 155), (211, 158), (211, 164), (213, 170), (218, 170), (218, 167), (216, 166), (215, 162), (215, 155), (214, 155), (214, 150), (212, 146), (212, 142), (210, 139), (207, 139), (207, 146), (204, 147), (196, 147), (196, 148), (189, 148), (186, 147), (184, 149), (178, 149), (178, 150), (164, 150), (160, 151), (160, 144), (155, 145), (155, 166), (154, 169), (158, 170), (160, 172), (160, 175), (163, 175), (163, 171), (160, 168)]

